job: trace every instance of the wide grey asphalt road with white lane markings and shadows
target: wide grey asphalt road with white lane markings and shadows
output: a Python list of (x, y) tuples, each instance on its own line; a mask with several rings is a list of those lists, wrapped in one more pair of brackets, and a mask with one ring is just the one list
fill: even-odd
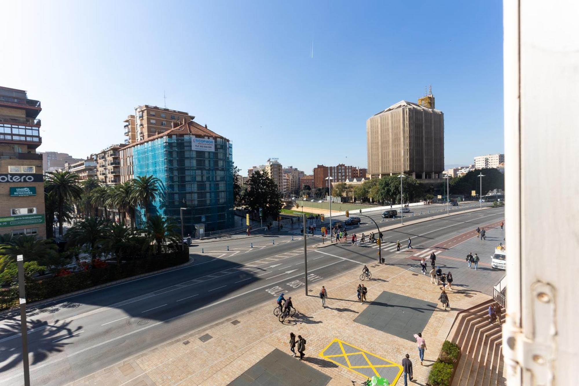
[[(383, 249), (408, 237), (413, 246), (432, 246), (500, 220), (503, 213), (488, 209), (385, 231)], [(373, 224), (361, 224), (354, 232), (372, 228)], [(308, 238), (310, 245), (320, 241), (319, 236)], [(30, 309), (32, 384), (72, 382), (264, 301), (271, 301), (273, 311), (279, 293), (304, 290), (303, 239), (291, 232), (193, 245), (190, 253), (194, 261), (184, 267)], [(382, 256), (387, 263), (412, 264), (394, 252), (384, 251)], [(357, 266), (361, 271), (378, 256), (370, 245), (343, 244), (309, 248), (307, 257), (310, 288), (317, 293), (324, 279)], [(294, 305), (299, 310), (299, 304)], [(2, 385), (23, 384), (19, 330), (18, 316), (0, 322)]]

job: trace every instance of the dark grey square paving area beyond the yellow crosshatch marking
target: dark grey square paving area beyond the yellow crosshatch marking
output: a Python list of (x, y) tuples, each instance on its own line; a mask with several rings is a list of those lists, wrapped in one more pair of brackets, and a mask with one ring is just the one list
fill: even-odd
[(413, 334), (422, 332), (435, 307), (428, 301), (384, 291), (354, 322), (414, 341)]

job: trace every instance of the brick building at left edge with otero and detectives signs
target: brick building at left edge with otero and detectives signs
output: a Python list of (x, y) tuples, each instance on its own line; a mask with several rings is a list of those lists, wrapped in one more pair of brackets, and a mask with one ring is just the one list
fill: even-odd
[(46, 238), (41, 110), (24, 90), (0, 87), (0, 234)]

